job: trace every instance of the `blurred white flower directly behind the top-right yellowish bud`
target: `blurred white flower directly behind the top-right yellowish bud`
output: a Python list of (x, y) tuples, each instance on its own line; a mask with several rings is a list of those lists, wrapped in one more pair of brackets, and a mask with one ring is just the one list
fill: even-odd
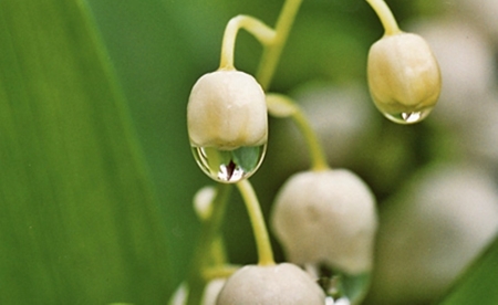
[(496, 82), (492, 46), (483, 31), (458, 15), (416, 22), (411, 30), (430, 43), (443, 75), (439, 103), (430, 118), (463, 128), (479, 120), (483, 99)]

